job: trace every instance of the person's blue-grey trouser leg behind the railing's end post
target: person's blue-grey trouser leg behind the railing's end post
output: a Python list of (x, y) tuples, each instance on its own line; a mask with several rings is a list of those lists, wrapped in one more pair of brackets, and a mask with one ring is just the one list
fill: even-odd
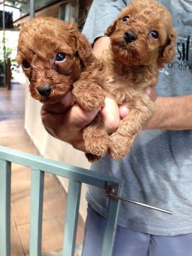
[[(88, 207), (82, 256), (100, 256), (106, 220)], [(147, 256), (150, 235), (118, 226), (113, 256)], [(162, 255), (161, 255), (162, 256)]]

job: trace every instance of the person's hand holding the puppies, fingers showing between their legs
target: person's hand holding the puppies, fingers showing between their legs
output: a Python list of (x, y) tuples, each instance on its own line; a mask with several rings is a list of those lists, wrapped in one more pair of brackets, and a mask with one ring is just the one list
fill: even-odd
[[(147, 88), (145, 93), (153, 101), (156, 100), (155, 89)], [(118, 128), (120, 119), (129, 114), (130, 109), (127, 104), (118, 106), (114, 99), (106, 97), (101, 109), (86, 111), (78, 104), (73, 104), (72, 93), (69, 92), (62, 102), (42, 106), (42, 123), (49, 134), (85, 152), (83, 128), (92, 122), (99, 111), (106, 131), (111, 134)]]

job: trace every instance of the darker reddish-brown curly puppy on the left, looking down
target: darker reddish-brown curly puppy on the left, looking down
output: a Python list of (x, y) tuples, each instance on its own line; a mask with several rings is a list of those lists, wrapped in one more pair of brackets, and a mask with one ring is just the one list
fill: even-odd
[[(52, 17), (28, 20), (20, 30), (17, 62), (29, 79), (31, 96), (40, 102), (54, 104), (71, 90), (74, 101), (84, 109), (99, 108), (104, 102), (101, 63), (73, 22)], [(108, 134), (97, 122), (100, 118), (91, 124), (97, 123), (97, 141), (89, 125), (83, 131), (86, 145), (93, 144), (88, 152), (99, 156), (109, 146)]]

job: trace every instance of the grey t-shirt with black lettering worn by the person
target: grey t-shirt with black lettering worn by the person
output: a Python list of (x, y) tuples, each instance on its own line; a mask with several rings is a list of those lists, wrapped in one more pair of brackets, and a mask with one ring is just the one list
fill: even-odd
[[(95, 0), (83, 33), (90, 42), (102, 36), (118, 12), (130, 1)], [(177, 56), (159, 72), (159, 96), (192, 93), (192, 1), (161, 0), (177, 28)], [(192, 111), (192, 102), (191, 102)], [(104, 156), (92, 170), (125, 179), (122, 196), (173, 211), (164, 214), (122, 202), (118, 225), (161, 236), (192, 232), (192, 131), (150, 129), (140, 132), (127, 157), (113, 161)], [(89, 186), (86, 196), (95, 211), (106, 216), (104, 191)]]

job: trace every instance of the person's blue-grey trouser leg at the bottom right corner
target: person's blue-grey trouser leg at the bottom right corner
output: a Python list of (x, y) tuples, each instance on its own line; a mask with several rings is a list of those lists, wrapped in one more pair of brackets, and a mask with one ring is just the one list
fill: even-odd
[(191, 256), (192, 233), (179, 236), (151, 236), (148, 256)]

